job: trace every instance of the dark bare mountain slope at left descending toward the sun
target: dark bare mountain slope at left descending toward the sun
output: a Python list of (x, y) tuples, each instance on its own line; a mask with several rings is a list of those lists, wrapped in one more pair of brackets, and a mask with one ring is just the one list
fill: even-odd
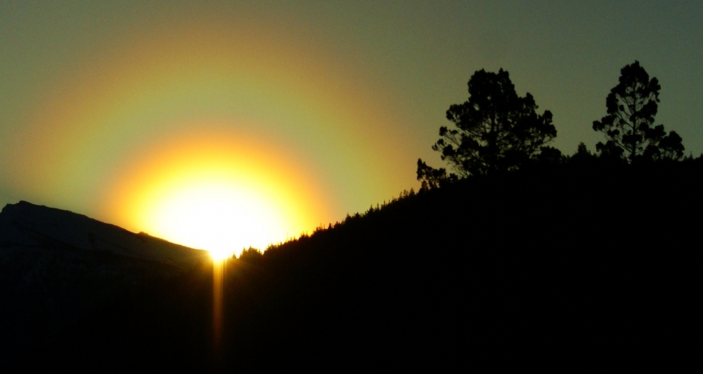
[(0, 357), (52, 344), (114, 307), (209, 260), (205, 251), (26, 201), (0, 213)]

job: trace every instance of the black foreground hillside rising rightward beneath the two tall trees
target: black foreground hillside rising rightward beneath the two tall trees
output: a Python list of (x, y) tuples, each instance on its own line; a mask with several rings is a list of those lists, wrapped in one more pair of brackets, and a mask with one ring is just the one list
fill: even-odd
[(200, 372), (678, 365), (699, 332), (702, 170), (576, 165), (471, 178), (247, 252), (226, 264), (219, 345), (212, 265), (173, 276), (144, 266), (136, 274), (149, 281), (4, 362)]

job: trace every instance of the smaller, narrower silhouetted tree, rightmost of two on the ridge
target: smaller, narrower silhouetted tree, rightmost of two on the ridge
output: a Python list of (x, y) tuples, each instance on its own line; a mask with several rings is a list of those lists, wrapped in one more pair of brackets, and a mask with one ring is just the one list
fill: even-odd
[(683, 158), (681, 136), (675, 131), (666, 135), (664, 125), (654, 125), (659, 102), (657, 78), (650, 79), (640, 62), (625, 65), (620, 70), (617, 86), (608, 94), (607, 115), (593, 121), (593, 130), (605, 134), (607, 142), (598, 142), (595, 148), (601, 154), (636, 159)]

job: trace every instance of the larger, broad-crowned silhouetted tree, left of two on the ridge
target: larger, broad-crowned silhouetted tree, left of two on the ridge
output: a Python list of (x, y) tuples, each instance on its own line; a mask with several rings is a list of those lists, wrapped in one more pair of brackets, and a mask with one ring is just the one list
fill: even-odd
[[(441, 138), (432, 146), (459, 176), (515, 170), (557, 135), (551, 112), (537, 114), (532, 95), (517, 95), (507, 71), (481, 69), (471, 76), (468, 88), (469, 100), (446, 111), (456, 128), (441, 126)], [(418, 160), (423, 185), (447, 178), (442, 169)]]

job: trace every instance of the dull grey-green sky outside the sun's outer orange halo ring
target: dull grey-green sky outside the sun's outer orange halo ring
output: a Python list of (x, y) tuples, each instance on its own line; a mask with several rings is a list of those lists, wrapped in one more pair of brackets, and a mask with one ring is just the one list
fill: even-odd
[[(554, 145), (570, 154), (581, 141), (593, 149), (602, 140), (591, 123), (605, 114), (619, 69), (634, 60), (662, 84), (657, 122), (682, 136), (687, 154), (703, 152), (703, 2), (632, 0), (4, 1), (0, 147), (56, 76), (106, 53), (110, 41), (210, 13), (255, 18), (349, 60), (349, 74), (385, 93), (381, 105), (402, 122), (398, 142), (434, 166), (441, 161), (430, 147), (448, 123), (444, 112), (466, 100), (477, 69), (508, 70), (520, 94), (553, 112)], [(6, 168), (22, 155), (0, 157)], [(0, 202), (21, 199), (15, 187), (0, 181)]]

